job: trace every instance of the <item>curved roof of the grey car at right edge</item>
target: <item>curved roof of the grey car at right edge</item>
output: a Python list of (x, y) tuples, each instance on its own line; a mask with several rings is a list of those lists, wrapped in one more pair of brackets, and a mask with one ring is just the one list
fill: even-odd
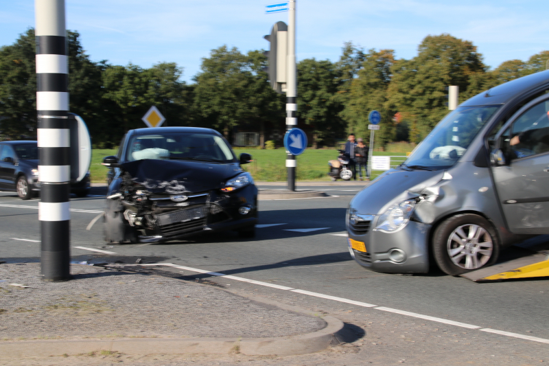
[(528, 93), (528, 91), (541, 89), (546, 85), (549, 85), (549, 70), (523, 76), (522, 78), (511, 80), (487, 91), (483, 91), (473, 98), (466, 100), (460, 104), (460, 106), (506, 104), (520, 95)]

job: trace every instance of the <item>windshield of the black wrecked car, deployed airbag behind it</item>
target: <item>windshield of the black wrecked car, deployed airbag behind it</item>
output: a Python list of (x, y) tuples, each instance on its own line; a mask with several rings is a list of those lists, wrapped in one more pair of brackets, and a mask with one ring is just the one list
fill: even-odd
[(235, 161), (235, 155), (222, 137), (206, 133), (134, 135), (128, 144), (126, 161), (143, 159), (229, 163)]

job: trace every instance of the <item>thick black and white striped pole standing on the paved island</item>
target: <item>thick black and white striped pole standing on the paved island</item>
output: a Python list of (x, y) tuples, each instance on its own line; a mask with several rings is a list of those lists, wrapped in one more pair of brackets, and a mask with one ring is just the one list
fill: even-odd
[(35, 0), (42, 275), (70, 278), (69, 68), (65, 0)]

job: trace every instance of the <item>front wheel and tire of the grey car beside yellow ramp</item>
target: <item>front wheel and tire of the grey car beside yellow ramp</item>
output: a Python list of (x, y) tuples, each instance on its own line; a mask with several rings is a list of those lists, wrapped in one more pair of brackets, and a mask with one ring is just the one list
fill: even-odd
[(432, 245), (436, 264), (452, 276), (491, 266), (500, 254), (495, 229), (476, 214), (447, 218), (434, 231)]

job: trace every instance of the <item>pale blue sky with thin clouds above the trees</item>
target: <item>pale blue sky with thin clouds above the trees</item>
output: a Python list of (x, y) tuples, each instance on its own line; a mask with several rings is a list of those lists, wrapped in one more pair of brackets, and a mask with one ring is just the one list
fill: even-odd
[[(264, 14), (265, 0), (66, 0), (67, 28), (92, 60), (150, 67), (177, 62), (183, 80), (221, 45), (267, 49), (263, 36), (288, 13)], [(34, 0), (0, 0), (0, 45), (34, 27)], [(549, 1), (297, 0), (298, 60), (338, 60), (345, 41), (417, 55), (428, 34), (472, 41), (492, 68), (549, 49)]]

